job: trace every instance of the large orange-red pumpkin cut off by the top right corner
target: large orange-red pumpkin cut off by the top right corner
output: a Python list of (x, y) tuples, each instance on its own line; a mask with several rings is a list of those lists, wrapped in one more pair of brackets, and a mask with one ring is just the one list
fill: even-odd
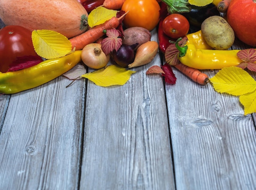
[(256, 46), (256, 2), (254, 0), (232, 0), (227, 9), (227, 21), (242, 42)]

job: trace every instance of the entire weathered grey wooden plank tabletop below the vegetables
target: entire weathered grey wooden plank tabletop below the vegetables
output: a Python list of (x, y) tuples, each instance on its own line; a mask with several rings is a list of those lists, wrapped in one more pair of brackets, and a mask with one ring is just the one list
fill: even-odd
[(146, 75), (161, 56), (124, 86), (61, 76), (0, 95), (0, 190), (256, 189), (256, 114), (175, 68), (175, 85)]

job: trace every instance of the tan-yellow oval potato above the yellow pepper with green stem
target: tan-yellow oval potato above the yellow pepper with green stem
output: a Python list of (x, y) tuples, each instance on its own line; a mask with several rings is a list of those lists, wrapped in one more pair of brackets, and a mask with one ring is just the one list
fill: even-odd
[(234, 30), (221, 16), (211, 16), (202, 22), (202, 37), (213, 49), (229, 49), (235, 40)]

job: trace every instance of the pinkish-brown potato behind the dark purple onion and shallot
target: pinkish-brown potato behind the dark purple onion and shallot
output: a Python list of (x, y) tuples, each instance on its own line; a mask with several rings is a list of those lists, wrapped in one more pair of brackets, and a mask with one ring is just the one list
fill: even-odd
[(139, 43), (135, 50), (137, 50), (141, 44), (150, 41), (150, 39), (150, 31), (143, 27), (130, 27), (124, 30), (123, 44), (132, 45)]

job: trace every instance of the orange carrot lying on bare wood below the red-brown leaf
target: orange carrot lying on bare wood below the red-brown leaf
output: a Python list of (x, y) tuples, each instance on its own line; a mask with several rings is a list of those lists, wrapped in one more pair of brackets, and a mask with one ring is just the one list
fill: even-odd
[(198, 69), (191, 68), (182, 63), (173, 66), (198, 84), (205, 85), (209, 82), (209, 77), (206, 74), (200, 72)]

